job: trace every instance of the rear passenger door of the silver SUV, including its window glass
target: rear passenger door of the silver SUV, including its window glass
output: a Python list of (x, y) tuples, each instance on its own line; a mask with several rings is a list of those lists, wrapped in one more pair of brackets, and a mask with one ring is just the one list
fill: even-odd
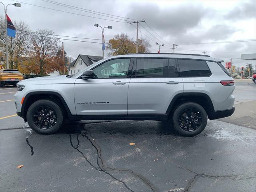
[(129, 114), (166, 114), (178, 93), (183, 92), (176, 60), (135, 58), (128, 90)]

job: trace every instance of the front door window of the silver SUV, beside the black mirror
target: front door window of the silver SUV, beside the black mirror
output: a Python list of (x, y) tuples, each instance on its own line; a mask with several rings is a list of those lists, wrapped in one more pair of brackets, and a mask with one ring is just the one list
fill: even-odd
[(96, 78), (126, 78), (130, 58), (114, 59), (93, 69)]

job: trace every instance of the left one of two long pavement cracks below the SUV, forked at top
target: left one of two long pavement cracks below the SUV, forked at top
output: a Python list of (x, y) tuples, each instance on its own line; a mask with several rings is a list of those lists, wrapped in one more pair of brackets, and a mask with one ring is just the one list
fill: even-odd
[(108, 173), (107, 170), (105, 170), (103, 167), (101, 167), (101, 166), (98, 164), (98, 160), (97, 160), (97, 164), (98, 164), (99, 168), (97, 168), (96, 166), (94, 166), (94, 165), (88, 160), (88, 158), (86, 158), (86, 156), (83, 154), (83, 152), (81, 152), (81, 151), (78, 149), (79, 144), (80, 144), (80, 141), (79, 141), (79, 139), (78, 139), (78, 136), (79, 136), (79, 134), (77, 134), (77, 136), (76, 136), (76, 140), (78, 141), (78, 144), (77, 144), (76, 146), (74, 146), (73, 143), (72, 143), (71, 134), (69, 134), (71, 146), (72, 146), (74, 149), (76, 149), (78, 152), (80, 152), (80, 154), (82, 154), (82, 156), (84, 157), (84, 159), (85, 159), (95, 170), (100, 171), (100, 172), (104, 172), (104, 173), (108, 174), (108, 175), (109, 175), (110, 177), (112, 177), (114, 180), (119, 181), (119, 182), (121, 182), (122, 184), (124, 184), (124, 186), (125, 186), (129, 191), (134, 192), (133, 190), (131, 190), (131, 189), (127, 186), (127, 184), (126, 184), (125, 182), (123, 182), (123, 181), (119, 180), (118, 178), (114, 177), (112, 174)]

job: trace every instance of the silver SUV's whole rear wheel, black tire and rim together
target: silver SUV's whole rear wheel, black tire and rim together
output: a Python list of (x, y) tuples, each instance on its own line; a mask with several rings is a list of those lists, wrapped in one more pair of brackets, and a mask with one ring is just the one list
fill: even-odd
[(174, 111), (172, 121), (174, 129), (180, 135), (195, 136), (200, 134), (206, 127), (207, 113), (197, 103), (183, 103)]

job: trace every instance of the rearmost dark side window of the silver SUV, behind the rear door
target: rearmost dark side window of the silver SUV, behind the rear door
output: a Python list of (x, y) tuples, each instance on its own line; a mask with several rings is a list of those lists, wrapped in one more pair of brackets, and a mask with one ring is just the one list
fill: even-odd
[(208, 77), (211, 74), (205, 61), (179, 59), (178, 63), (182, 77)]

